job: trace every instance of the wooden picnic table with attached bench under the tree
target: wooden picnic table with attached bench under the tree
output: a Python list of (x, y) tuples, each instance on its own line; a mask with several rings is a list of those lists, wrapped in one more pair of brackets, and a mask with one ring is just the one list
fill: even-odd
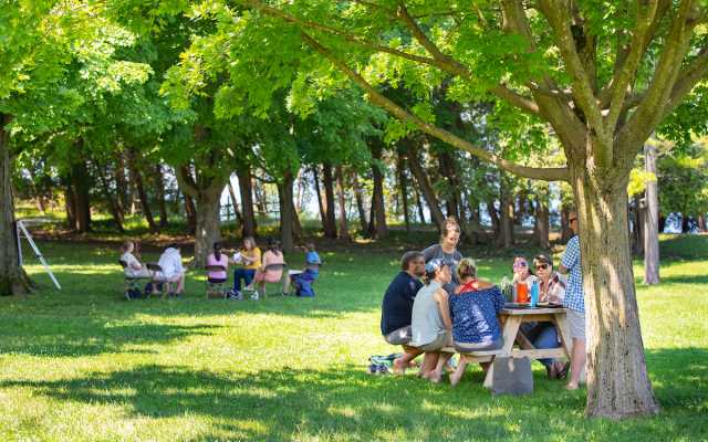
[[(562, 358), (570, 360), (571, 339), (565, 323), (566, 308), (503, 308), (499, 314), (502, 324), (504, 346), (498, 350), (462, 352), (460, 357), (469, 362), (491, 362), (494, 357), (514, 357), (529, 359)], [(560, 345), (556, 348), (535, 348), (531, 340), (521, 330), (523, 323), (550, 322), (559, 330)], [(514, 347), (518, 345), (518, 348)], [(446, 347), (442, 351), (458, 352), (452, 347)], [(491, 369), (485, 378), (485, 386), (491, 385)]]

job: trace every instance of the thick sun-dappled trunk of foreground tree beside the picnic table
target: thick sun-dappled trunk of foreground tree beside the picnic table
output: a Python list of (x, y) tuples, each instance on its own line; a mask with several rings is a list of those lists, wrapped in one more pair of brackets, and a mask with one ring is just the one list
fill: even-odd
[(571, 173), (589, 327), (585, 412), (613, 419), (656, 413), (629, 254), (628, 172), (612, 186), (598, 186), (584, 165)]

